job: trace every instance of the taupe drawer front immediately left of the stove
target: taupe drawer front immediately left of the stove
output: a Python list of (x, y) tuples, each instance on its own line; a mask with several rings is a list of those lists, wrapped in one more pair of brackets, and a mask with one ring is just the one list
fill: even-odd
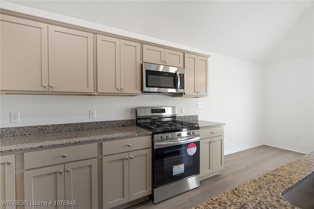
[(115, 141), (103, 142), (103, 155), (129, 152), (152, 147), (151, 136), (128, 138)]

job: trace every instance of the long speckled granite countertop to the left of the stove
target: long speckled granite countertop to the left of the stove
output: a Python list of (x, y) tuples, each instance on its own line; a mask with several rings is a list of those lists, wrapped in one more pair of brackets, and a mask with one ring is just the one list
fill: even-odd
[(151, 131), (137, 126), (109, 127), (104, 129), (41, 133), (33, 135), (9, 136), (0, 138), (0, 154), (49, 148), (62, 145), (74, 145), (87, 142), (116, 140), (152, 134)]

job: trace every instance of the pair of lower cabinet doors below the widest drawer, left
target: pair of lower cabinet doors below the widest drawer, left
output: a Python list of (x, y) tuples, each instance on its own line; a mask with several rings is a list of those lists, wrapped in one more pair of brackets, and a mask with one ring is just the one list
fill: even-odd
[(47, 208), (97, 209), (97, 158), (26, 171), (24, 189), (25, 200)]

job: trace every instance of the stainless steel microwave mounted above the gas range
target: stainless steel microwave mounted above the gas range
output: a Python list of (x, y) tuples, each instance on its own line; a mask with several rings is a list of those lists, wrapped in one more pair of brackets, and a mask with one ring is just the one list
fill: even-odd
[(184, 93), (184, 68), (151, 63), (142, 64), (142, 92)]

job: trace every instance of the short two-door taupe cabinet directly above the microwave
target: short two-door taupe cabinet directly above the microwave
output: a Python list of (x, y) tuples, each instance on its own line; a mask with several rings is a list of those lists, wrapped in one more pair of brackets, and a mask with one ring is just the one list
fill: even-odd
[(183, 68), (183, 52), (144, 44), (143, 62)]

